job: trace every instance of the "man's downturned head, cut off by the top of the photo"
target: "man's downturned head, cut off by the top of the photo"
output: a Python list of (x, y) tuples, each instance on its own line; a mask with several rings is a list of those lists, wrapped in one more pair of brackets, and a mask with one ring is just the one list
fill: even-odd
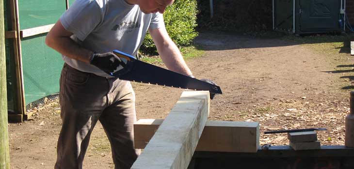
[(163, 13), (168, 5), (171, 5), (174, 0), (135, 0), (134, 4), (139, 5), (140, 10), (145, 14)]

